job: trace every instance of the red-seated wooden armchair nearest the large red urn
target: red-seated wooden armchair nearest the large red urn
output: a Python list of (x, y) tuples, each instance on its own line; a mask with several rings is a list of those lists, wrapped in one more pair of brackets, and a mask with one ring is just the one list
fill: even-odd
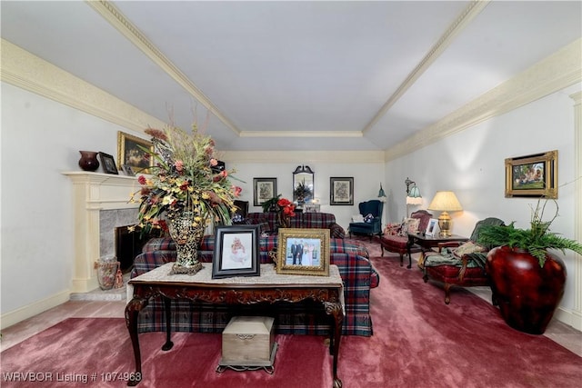
[(469, 241), (439, 244), (439, 252), (426, 252), (418, 260), (418, 267), (423, 270), (425, 283), (431, 278), (445, 284), (446, 304), (451, 301), (450, 289), (453, 285), (461, 287), (489, 285), (485, 263), (487, 251), (492, 247), (480, 246), (476, 242), (483, 226), (503, 224), (502, 220), (494, 217), (481, 220), (475, 225)]

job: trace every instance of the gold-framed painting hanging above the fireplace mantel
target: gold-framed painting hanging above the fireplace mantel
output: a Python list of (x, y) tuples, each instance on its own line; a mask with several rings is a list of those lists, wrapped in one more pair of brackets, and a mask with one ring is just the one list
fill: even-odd
[(120, 166), (131, 167), (135, 174), (151, 174), (150, 167), (154, 165), (154, 159), (144, 149), (153, 153), (154, 144), (133, 134), (117, 132), (117, 161)]

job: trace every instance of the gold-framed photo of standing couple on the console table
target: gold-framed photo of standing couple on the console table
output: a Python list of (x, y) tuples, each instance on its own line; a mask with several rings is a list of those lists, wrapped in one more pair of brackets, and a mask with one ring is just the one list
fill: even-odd
[(329, 229), (279, 229), (277, 274), (329, 276)]

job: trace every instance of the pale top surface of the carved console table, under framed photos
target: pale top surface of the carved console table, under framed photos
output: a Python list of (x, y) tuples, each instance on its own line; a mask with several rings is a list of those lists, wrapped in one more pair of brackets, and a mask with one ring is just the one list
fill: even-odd
[(234, 276), (212, 279), (212, 263), (203, 263), (202, 268), (194, 275), (169, 274), (174, 263), (167, 263), (156, 269), (140, 274), (129, 280), (129, 284), (185, 284), (208, 287), (343, 287), (336, 264), (329, 265), (329, 276), (312, 276), (303, 274), (276, 274), (274, 264), (261, 264), (260, 276)]

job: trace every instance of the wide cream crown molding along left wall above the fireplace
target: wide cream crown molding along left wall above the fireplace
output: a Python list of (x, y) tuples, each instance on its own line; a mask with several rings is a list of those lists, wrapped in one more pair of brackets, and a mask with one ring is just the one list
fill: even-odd
[(0, 80), (141, 134), (165, 124), (5, 39)]

